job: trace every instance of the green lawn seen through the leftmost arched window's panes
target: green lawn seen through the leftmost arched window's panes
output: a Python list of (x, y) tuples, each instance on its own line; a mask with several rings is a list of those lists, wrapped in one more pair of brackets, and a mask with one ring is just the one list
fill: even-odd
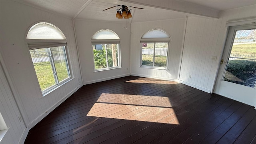
[[(55, 61), (55, 67), (59, 82), (68, 78), (68, 71), (64, 62)], [(34, 63), (34, 68), (42, 91), (55, 84), (50, 62)]]

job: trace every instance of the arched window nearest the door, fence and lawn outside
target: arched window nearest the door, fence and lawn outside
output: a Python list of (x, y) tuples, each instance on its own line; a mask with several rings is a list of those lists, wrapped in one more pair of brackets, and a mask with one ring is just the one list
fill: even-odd
[(140, 43), (141, 67), (167, 69), (170, 36), (164, 30), (149, 30)]

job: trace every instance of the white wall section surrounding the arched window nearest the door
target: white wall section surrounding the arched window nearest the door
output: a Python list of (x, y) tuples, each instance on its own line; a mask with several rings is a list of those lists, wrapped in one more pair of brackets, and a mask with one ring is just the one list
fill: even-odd
[[(132, 75), (177, 80), (186, 19), (135, 22), (131, 24)], [(154, 28), (162, 28), (171, 36), (168, 70), (140, 67), (140, 38)]]

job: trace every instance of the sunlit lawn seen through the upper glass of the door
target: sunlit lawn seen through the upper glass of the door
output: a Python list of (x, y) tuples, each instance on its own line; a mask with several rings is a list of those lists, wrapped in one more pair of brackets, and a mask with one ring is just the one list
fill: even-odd
[(233, 45), (231, 53), (237, 54), (256, 54), (256, 43)]

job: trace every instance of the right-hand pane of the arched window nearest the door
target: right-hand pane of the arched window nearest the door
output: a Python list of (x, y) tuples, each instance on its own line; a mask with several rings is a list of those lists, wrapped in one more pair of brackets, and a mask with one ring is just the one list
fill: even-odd
[(154, 66), (166, 67), (168, 42), (156, 42)]

